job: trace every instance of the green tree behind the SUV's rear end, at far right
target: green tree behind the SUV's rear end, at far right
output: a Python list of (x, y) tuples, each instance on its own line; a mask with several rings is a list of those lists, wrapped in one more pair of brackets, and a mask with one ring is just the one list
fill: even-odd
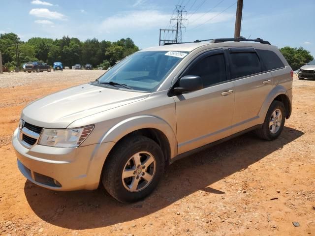
[(292, 70), (297, 70), (301, 66), (314, 59), (310, 51), (307, 51), (302, 47), (284, 47), (280, 49), (280, 52), (282, 53), (282, 55), (284, 55), (284, 58), (291, 66)]

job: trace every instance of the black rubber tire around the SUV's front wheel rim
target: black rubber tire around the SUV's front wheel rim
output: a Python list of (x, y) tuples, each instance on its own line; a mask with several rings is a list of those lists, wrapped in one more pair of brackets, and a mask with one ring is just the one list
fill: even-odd
[[(150, 152), (154, 156), (155, 174), (146, 187), (131, 192), (124, 186), (122, 174), (129, 158), (141, 151)], [(107, 158), (102, 173), (104, 188), (112, 197), (123, 203), (136, 202), (148, 196), (156, 188), (164, 172), (164, 156), (161, 148), (152, 139), (144, 136), (130, 136), (122, 140)]]

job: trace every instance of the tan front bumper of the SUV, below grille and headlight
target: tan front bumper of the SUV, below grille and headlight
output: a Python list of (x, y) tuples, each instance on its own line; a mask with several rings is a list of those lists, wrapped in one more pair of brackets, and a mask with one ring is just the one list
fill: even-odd
[(96, 189), (104, 161), (114, 144), (78, 148), (34, 145), (28, 149), (18, 140), (18, 130), (12, 138), (20, 172), (37, 185), (59, 191)]

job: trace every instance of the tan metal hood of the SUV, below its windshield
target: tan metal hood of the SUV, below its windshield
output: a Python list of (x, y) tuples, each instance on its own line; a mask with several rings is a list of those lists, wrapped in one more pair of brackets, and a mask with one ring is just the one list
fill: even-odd
[(136, 102), (149, 95), (84, 84), (35, 100), (24, 108), (21, 118), (44, 128), (66, 128), (77, 119)]

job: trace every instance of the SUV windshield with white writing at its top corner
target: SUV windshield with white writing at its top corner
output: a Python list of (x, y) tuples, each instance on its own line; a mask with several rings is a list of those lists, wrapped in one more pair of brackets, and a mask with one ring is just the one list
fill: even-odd
[(141, 91), (156, 91), (172, 69), (187, 55), (187, 52), (137, 52), (113, 66), (98, 82), (119, 83)]

